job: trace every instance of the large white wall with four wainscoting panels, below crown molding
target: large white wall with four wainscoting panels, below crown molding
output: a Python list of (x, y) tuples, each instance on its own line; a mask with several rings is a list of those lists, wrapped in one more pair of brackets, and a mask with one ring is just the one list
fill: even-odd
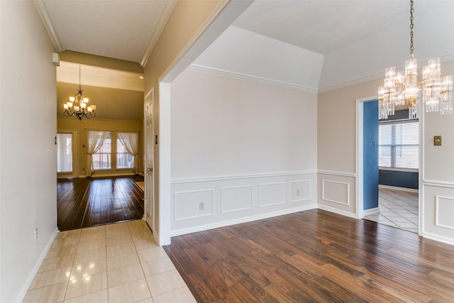
[(171, 98), (172, 235), (315, 207), (315, 94), (185, 71)]

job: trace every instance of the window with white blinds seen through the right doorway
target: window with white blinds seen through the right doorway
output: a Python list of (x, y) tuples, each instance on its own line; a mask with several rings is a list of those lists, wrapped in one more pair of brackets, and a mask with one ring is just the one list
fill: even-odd
[(419, 123), (380, 123), (378, 135), (380, 167), (419, 169)]

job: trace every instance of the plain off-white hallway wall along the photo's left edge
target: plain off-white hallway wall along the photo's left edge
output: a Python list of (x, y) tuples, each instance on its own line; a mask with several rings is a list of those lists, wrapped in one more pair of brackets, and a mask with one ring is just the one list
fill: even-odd
[(56, 78), (33, 2), (0, 11), (0, 301), (21, 302), (57, 228)]

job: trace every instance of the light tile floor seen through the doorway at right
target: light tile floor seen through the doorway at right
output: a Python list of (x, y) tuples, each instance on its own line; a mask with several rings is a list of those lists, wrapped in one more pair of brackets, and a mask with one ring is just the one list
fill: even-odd
[(380, 212), (364, 216), (364, 219), (418, 233), (418, 193), (383, 188), (378, 192)]

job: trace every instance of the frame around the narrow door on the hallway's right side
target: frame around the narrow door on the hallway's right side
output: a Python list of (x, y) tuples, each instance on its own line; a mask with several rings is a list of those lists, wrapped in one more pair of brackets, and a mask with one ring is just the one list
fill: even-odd
[[(147, 161), (147, 156), (148, 156), (148, 149), (147, 149), (147, 146), (148, 146), (148, 131), (147, 131), (147, 117), (146, 117), (146, 104), (148, 101), (150, 101), (149, 99), (151, 98), (151, 106), (153, 108), (153, 114), (152, 114), (152, 123), (151, 123), (151, 136), (150, 138), (154, 138), (155, 136), (155, 91), (154, 91), (154, 88), (150, 89), (150, 92), (148, 92), (147, 94), (145, 94), (145, 97), (143, 99), (143, 116), (144, 116), (144, 119), (143, 119), (143, 137), (144, 137), (144, 144), (143, 144), (143, 148), (144, 148), (144, 167), (143, 167), (143, 174), (144, 174), (144, 177), (145, 177), (145, 192), (144, 192), (144, 213), (143, 213), (143, 216), (144, 216), (144, 219), (145, 219), (145, 222), (147, 222), (147, 224), (150, 226), (151, 230), (153, 231), (153, 235), (155, 236), (155, 238), (157, 236), (157, 233), (156, 233), (156, 214), (155, 214), (155, 169), (153, 166), (155, 166), (155, 145), (153, 144), (153, 148), (152, 148), (152, 153), (153, 153), (153, 165), (152, 167), (147, 167), (148, 165), (148, 161)], [(152, 178), (152, 182), (151, 184), (148, 184), (147, 182), (147, 170), (148, 168), (151, 168), (151, 178)], [(151, 224), (149, 223), (149, 221), (147, 220), (147, 207), (148, 207), (148, 199), (147, 199), (147, 194), (149, 192), (149, 187), (151, 186)], [(158, 239), (156, 239), (156, 241), (158, 241)]]

